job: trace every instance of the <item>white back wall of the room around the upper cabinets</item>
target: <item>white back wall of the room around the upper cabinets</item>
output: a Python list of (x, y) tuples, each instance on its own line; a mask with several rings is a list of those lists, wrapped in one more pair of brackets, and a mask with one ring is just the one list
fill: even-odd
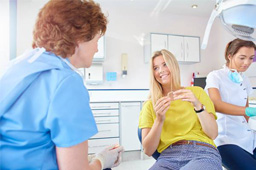
[[(17, 55), (31, 48), (32, 30), (39, 8), (46, 0), (18, 1)], [(95, 89), (147, 89), (149, 88), (149, 64), (144, 63), (143, 46), (137, 38), (150, 32), (200, 36), (203, 34), (208, 17), (191, 17), (177, 15), (159, 15), (150, 17), (149, 13), (135, 9), (123, 10), (112, 5), (101, 6), (108, 15), (106, 33), (106, 59), (103, 63), (104, 72), (117, 72), (117, 81), (102, 85), (87, 85)], [(136, 38), (137, 37), (137, 38)], [(225, 63), (224, 49), (232, 37), (226, 32), (219, 19), (216, 19), (209, 37), (208, 47), (201, 50), (201, 63), (180, 64), (181, 81), (188, 86), (192, 73), (207, 75), (214, 69), (219, 69)], [(121, 54), (128, 54), (128, 75), (121, 78)], [(105, 77), (105, 74), (104, 74)]]

